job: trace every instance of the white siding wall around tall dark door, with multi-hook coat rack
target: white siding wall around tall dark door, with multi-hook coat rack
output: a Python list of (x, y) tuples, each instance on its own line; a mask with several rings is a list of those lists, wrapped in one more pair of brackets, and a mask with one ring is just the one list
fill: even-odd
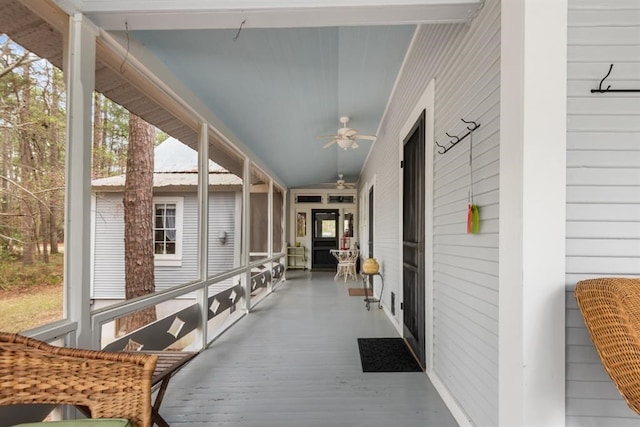
[[(375, 176), (374, 253), (385, 277), (383, 302), (402, 295), (399, 224), (400, 130), (435, 79), (435, 139), (463, 135), (465, 120), (481, 125), (473, 138), (474, 193), (480, 234), (466, 234), (469, 138), (434, 154), (433, 372), (475, 425), (498, 425), (498, 173), (500, 2), (489, 0), (468, 25), (427, 25), (412, 50), (363, 170)], [(362, 190), (362, 189), (361, 189)], [(427, 248), (427, 251), (430, 249)], [(394, 320), (402, 325), (396, 307)], [(401, 326), (398, 326), (399, 328)]]

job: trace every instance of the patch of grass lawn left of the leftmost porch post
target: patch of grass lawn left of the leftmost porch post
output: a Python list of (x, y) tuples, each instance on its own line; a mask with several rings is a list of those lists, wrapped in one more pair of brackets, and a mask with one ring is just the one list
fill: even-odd
[(62, 254), (25, 267), (0, 261), (0, 331), (20, 332), (62, 318)]

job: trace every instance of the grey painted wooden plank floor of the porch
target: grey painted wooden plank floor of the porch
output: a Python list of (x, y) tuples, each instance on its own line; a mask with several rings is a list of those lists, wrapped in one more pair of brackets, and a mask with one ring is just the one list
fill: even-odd
[(288, 280), (172, 379), (172, 426), (457, 426), (423, 373), (363, 373), (357, 338), (394, 337), (358, 282), (331, 273)]

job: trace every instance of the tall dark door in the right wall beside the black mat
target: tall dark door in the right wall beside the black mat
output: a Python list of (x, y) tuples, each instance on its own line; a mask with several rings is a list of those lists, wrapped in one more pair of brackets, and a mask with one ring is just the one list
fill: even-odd
[(404, 337), (425, 366), (424, 111), (404, 139), (402, 291)]

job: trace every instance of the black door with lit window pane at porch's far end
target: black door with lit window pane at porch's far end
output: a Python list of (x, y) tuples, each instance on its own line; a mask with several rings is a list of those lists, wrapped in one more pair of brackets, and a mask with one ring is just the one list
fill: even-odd
[(335, 270), (337, 260), (331, 249), (338, 249), (338, 210), (313, 209), (311, 217), (311, 268), (315, 270)]

